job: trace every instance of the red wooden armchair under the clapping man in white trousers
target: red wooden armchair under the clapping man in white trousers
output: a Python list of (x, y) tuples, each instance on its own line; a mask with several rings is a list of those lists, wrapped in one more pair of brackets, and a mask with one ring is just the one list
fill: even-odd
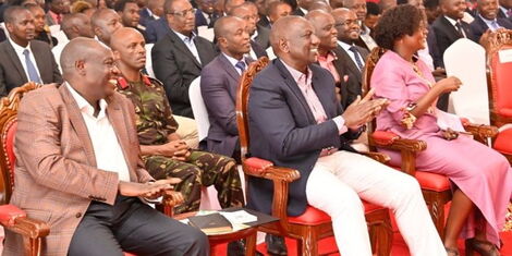
[[(236, 123), (239, 125), (242, 167), (246, 175), (268, 179), (273, 182), (272, 216), (280, 220), (265, 224), (259, 230), (270, 234), (296, 239), (298, 255), (318, 255), (317, 242), (333, 235), (330, 217), (310, 206), (298, 217), (288, 217), (287, 215), (289, 183), (300, 179), (298, 171), (284, 167), (276, 167), (272, 162), (264, 159), (246, 157), (251, 142), (247, 124), (249, 88), (253, 77), (267, 63), (268, 59), (265, 57), (253, 62), (243, 74), (236, 94)], [(369, 156), (380, 161), (389, 160), (389, 157), (386, 155), (369, 154)], [(389, 255), (392, 242), (389, 210), (368, 203), (364, 203), (364, 205), (373, 249), (377, 252), (377, 255)]]

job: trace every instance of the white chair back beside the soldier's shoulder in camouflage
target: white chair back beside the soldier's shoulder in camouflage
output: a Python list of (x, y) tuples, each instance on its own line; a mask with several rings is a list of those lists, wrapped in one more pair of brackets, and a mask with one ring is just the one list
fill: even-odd
[(208, 130), (210, 129), (208, 110), (206, 109), (203, 95), (200, 94), (200, 76), (192, 81), (192, 84), (188, 87), (188, 98), (191, 100), (194, 119), (197, 123), (197, 133), (200, 142), (208, 136)]

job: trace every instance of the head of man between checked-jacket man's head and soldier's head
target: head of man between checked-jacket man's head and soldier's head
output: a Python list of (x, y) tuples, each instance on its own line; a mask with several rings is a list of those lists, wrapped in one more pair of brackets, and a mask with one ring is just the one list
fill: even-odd
[(123, 27), (121, 17), (112, 9), (98, 9), (90, 21), (95, 38), (107, 47), (110, 47), (112, 34)]

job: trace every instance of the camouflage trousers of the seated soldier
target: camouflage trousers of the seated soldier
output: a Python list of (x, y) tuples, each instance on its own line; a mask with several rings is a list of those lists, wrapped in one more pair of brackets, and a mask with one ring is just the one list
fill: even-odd
[(245, 205), (236, 162), (232, 158), (193, 150), (186, 162), (163, 156), (145, 157), (144, 161), (157, 180), (182, 179), (175, 191), (183, 194), (185, 202), (174, 208), (174, 214), (198, 210), (202, 186), (210, 185), (217, 190), (222, 208)]

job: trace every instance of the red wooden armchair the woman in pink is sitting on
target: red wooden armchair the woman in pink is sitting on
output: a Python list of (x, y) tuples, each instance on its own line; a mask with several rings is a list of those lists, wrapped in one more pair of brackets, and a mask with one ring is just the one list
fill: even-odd
[[(375, 65), (386, 52), (382, 48), (375, 48), (368, 56), (365, 65), (363, 92), (369, 92), (369, 84)], [(472, 133), (478, 142), (486, 143), (498, 133), (498, 129), (488, 125), (475, 125), (462, 120), (464, 129)], [(416, 169), (416, 154), (425, 150), (427, 144), (417, 139), (405, 139), (392, 132), (375, 131), (375, 120), (368, 124), (368, 143), (371, 150), (386, 148), (400, 151), (402, 162), (400, 167), (393, 167), (416, 178), (423, 191), (430, 216), (441, 239), (444, 239), (444, 205), (451, 200), (452, 193), (450, 181), (446, 175), (426, 172)]]

